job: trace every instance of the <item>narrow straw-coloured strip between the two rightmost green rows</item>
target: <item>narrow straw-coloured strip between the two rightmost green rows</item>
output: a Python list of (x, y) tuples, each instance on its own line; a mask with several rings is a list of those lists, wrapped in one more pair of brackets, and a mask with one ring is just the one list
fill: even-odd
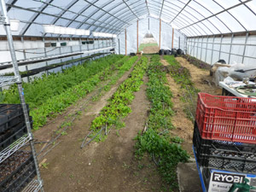
[[(164, 66), (168, 66), (169, 63), (166, 60), (161, 60)], [(166, 74), (168, 86), (172, 91), (173, 111), (175, 115), (172, 117), (172, 125), (176, 127), (171, 131), (173, 136), (178, 136), (184, 140), (182, 143), (183, 149), (187, 150), (189, 154), (192, 152), (192, 138), (194, 125), (191, 120), (186, 118), (186, 113), (183, 112), (183, 102), (180, 100), (180, 85), (176, 84), (169, 73)]]

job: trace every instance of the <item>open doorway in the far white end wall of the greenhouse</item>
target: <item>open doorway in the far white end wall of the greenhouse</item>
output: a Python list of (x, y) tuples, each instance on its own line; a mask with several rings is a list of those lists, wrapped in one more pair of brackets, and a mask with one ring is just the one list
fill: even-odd
[(139, 52), (143, 51), (144, 54), (154, 54), (158, 53), (159, 46), (151, 33), (147, 33), (143, 42), (139, 46)]

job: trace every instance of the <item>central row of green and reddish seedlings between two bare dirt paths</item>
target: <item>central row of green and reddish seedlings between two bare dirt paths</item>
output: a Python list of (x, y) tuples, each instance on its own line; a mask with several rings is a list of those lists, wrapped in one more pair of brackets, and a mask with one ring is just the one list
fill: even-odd
[(114, 92), (108, 101), (108, 105), (102, 108), (99, 116), (92, 121), (90, 130), (94, 133), (91, 134), (91, 137), (101, 139), (102, 135), (104, 135), (101, 134), (103, 130), (105, 130), (105, 135), (107, 135), (113, 125), (116, 128), (125, 126), (124, 123), (120, 122), (120, 119), (131, 113), (129, 105), (134, 99), (133, 93), (140, 90), (147, 67), (148, 58), (143, 56), (137, 61), (128, 79), (120, 84), (119, 88)]

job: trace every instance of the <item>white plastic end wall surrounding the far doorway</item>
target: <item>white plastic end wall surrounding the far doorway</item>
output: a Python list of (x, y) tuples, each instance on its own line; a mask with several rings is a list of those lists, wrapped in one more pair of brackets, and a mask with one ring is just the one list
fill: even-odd
[[(149, 19), (149, 20), (148, 20)], [(149, 24), (149, 25), (148, 25)], [(172, 49), (172, 26), (161, 22), (161, 39), (160, 39), (160, 20), (152, 17), (138, 21), (138, 46), (143, 41), (147, 33), (152, 33), (157, 44), (160, 44), (160, 49)], [(186, 37), (183, 33), (174, 31), (173, 47), (178, 49), (180, 39), (180, 49), (185, 49)], [(126, 28), (127, 55), (137, 53), (137, 22)], [(115, 51), (117, 54), (125, 55), (125, 31), (121, 32), (116, 38)]]

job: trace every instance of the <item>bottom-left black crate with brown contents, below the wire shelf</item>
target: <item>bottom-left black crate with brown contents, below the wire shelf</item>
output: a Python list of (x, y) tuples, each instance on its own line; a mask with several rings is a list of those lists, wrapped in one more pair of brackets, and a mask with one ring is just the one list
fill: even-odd
[(17, 151), (0, 166), (0, 191), (20, 191), (36, 175), (31, 152)]

